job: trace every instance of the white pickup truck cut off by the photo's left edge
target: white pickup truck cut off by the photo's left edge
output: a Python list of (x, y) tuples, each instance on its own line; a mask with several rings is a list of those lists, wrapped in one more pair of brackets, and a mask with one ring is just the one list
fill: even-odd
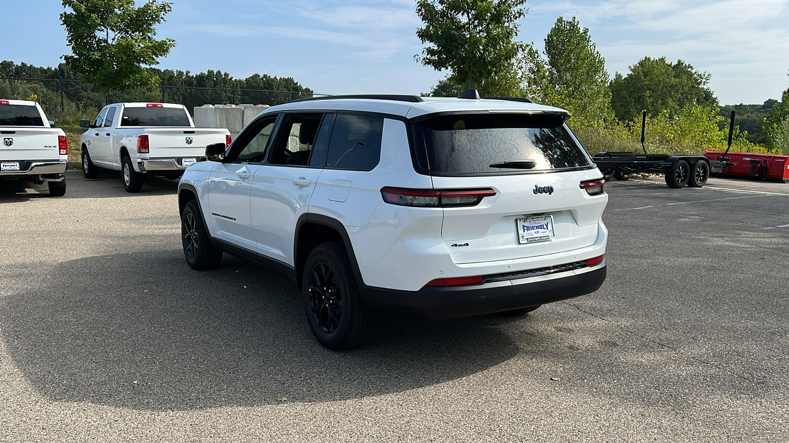
[(53, 126), (36, 102), (0, 100), (0, 181), (46, 181), (50, 195), (65, 195), (69, 145)]

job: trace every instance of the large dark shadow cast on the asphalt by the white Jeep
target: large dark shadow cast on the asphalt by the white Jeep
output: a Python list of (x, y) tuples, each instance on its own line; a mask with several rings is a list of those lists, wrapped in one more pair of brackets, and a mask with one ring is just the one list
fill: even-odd
[(166, 250), (9, 274), (35, 290), (0, 299), (2, 338), (36, 391), (59, 401), (193, 410), (346, 400), (448, 382), (519, 352), (490, 317), (382, 319), (372, 343), (331, 352), (312, 337), (293, 281), (227, 255), (202, 273)]

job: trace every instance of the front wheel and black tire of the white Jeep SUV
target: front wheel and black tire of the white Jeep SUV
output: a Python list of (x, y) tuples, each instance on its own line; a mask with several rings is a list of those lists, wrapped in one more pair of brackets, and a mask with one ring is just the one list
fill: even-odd
[(211, 244), (196, 200), (186, 203), (181, 212), (181, 244), (186, 262), (193, 270), (211, 270), (222, 261), (222, 251)]

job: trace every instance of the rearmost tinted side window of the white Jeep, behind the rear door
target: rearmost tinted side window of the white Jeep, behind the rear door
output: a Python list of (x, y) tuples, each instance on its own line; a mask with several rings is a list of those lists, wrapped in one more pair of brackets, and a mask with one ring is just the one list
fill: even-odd
[(338, 114), (331, 131), (326, 167), (370, 170), (381, 157), (383, 118)]

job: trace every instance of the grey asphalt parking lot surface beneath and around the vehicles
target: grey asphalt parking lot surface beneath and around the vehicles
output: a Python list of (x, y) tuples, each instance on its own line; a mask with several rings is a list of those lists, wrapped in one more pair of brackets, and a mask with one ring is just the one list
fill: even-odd
[(287, 277), (189, 269), (176, 182), (68, 186), (0, 189), (0, 441), (789, 440), (789, 184), (612, 182), (598, 292), (342, 353)]

